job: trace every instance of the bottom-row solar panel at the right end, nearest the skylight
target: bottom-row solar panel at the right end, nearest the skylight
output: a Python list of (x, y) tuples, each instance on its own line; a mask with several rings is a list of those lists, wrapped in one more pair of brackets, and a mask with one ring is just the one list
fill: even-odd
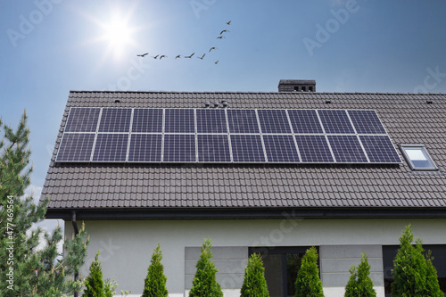
[(372, 163), (401, 163), (389, 136), (359, 136)]

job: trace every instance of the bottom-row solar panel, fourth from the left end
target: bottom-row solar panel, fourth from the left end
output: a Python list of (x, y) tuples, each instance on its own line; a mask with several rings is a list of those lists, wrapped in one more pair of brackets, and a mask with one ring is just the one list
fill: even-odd
[(193, 134), (164, 135), (164, 162), (195, 162), (195, 136)]

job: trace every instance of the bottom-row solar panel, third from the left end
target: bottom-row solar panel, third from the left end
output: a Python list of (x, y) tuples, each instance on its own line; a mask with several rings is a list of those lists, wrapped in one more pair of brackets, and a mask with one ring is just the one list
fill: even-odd
[(128, 149), (129, 162), (161, 162), (161, 134), (132, 134)]

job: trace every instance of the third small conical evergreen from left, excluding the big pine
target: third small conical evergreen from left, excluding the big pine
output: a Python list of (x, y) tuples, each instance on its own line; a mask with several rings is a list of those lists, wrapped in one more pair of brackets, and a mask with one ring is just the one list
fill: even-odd
[(202, 254), (196, 263), (196, 272), (189, 297), (223, 297), (223, 292), (215, 274), (219, 271), (212, 263), (211, 239), (202, 243)]

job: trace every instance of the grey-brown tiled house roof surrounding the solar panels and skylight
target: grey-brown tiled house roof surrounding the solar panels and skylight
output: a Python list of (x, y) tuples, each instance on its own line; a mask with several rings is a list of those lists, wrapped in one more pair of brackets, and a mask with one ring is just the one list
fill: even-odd
[[(70, 107), (202, 108), (205, 101), (221, 100), (227, 100), (232, 109), (376, 110), (395, 146), (425, 144), (439, 170), (412, 171), (406, 161), (398, 165), (54, 161)], [(257, 213), (260, 217), (268, 217), (268, 213), (279, 215), (291, 209), (316, 216), (362, 216), (366, 210), (392, 216), (393, 210), (407, 216), (413, 210), (432, 215), (446, 209), (445, 114), (446, 95), (442, 94), (71, 91), (41, 200), (50, 199), (48, 218), (62, 219), (70, 218), (71, 210), (86, 219), (130, 214), (161, 218), (176, 213), (188, 218), (206, 216), (209, 211), (220, 211), (221, 217), (225, 211), (255, 216), (257, 210), (264, 211)]]

